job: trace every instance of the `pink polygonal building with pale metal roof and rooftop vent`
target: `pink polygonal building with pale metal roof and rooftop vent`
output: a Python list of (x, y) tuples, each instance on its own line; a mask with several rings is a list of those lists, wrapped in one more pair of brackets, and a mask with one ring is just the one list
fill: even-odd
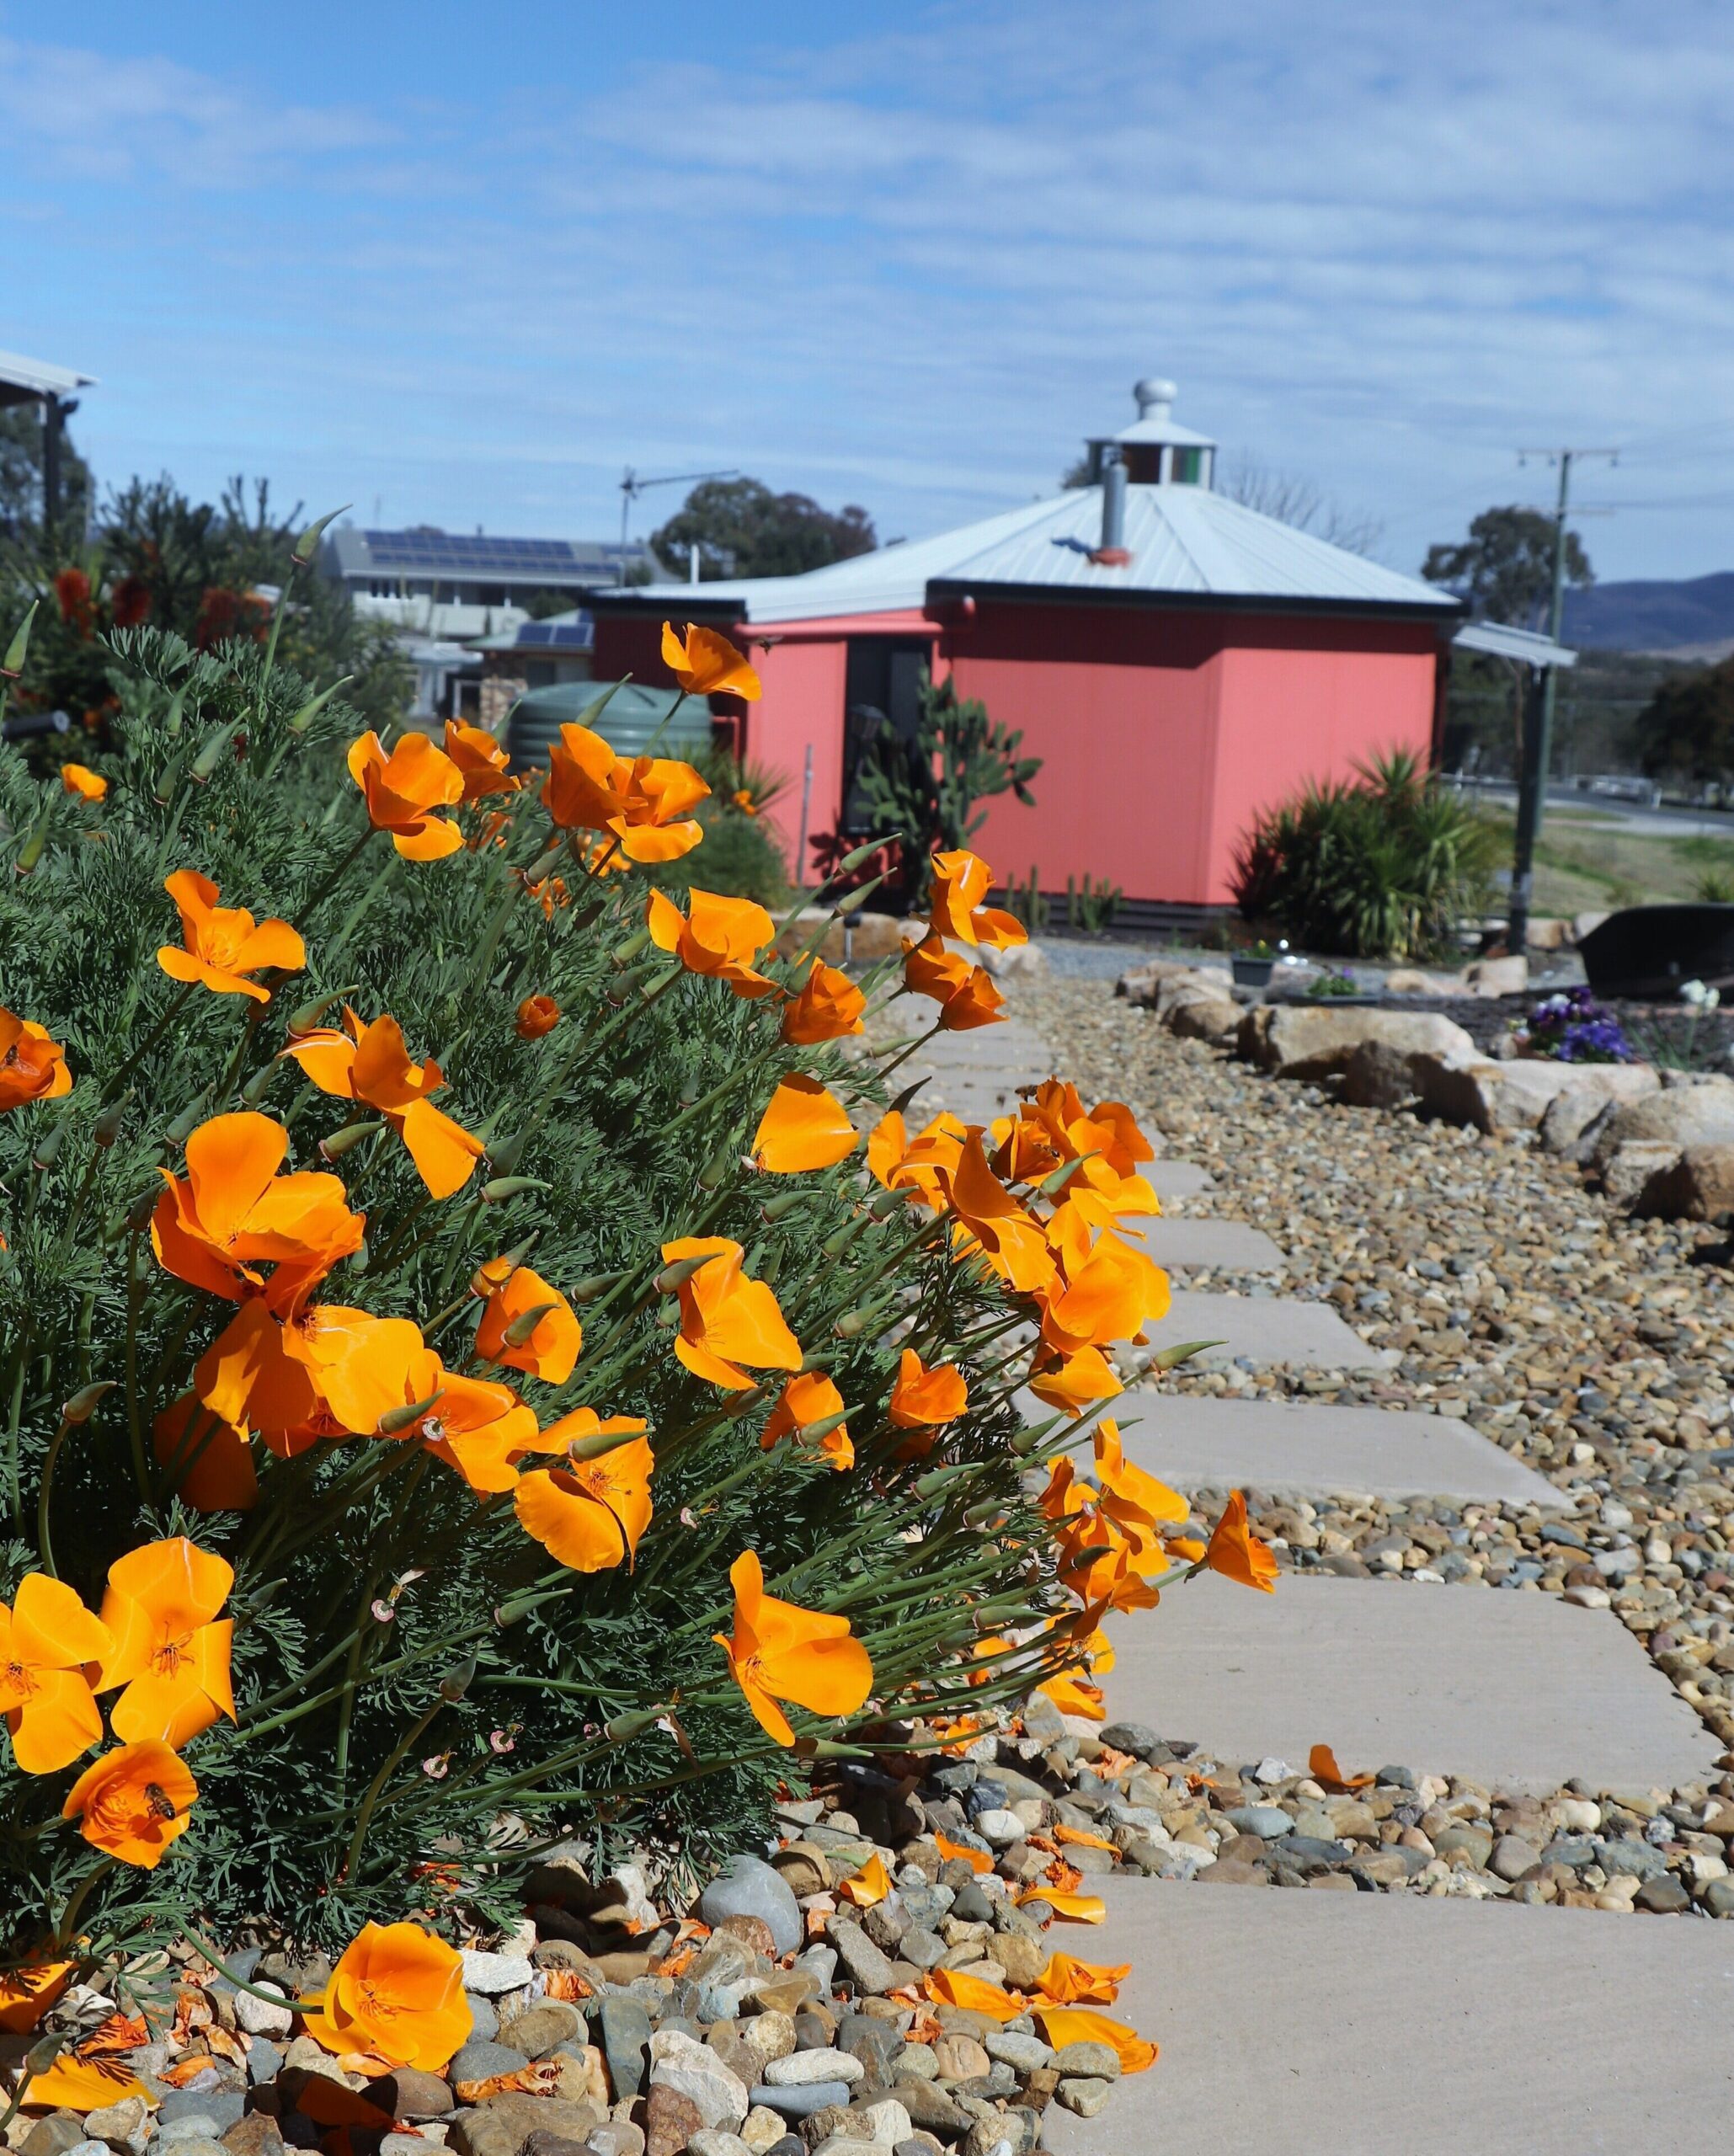
[(1001, 880), (1106, 877), (1132, 918), (1225, 903), (1260, 808), (1380, 750), (1432, 757), (1462, 606), (1212, 492), (1173, 386), (1137, 399), (1091, 485), (809, 576), (593, 593), (595, 675), (666, 681), (664, 617), (746, 647), (763, 699), (735, 709), (787, 778), (794, 860), (802, 796), (809, 837), (856, 821), (854, 761), (880, 714), (912, 729), (927, 666), (1044, 759), (1037, 806), (1003, 796), (975, 841)]

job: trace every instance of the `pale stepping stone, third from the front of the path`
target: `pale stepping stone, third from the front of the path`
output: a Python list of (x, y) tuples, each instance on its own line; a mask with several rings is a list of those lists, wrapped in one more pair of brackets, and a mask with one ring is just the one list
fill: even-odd
[(1126, 1455), (1175, 1490), (1568, 1505), (1551, 1481), (1454, 1414), (1156, 1391), (1128, 1393), (1115, 1408)]

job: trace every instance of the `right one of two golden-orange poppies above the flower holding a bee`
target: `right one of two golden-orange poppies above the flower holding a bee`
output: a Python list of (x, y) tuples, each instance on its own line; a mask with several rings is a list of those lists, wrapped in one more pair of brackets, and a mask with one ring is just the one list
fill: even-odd
[(233, 1585), (233, 1565), (185, 1535), (147, 1542), (108, 1567), (101, 1621), (114, 1645), (101, 1658), (97, 1690), (125, 1686), (108, 1712), (125, 1744), (157, 1738), (179, 1746), (220, 1714), (235, 1720), (229, 1686), (235, 1626), (218, 1617)]

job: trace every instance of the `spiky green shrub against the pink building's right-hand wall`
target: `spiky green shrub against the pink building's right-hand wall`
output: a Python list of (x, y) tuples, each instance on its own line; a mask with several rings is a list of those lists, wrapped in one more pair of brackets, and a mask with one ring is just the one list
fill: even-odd
[(1249, 921), (1341, 957), (1434, 957), (1488, 903), (1499, 828), (1391, 750), (1354, 780), (1309, 780), (1240, 839)]

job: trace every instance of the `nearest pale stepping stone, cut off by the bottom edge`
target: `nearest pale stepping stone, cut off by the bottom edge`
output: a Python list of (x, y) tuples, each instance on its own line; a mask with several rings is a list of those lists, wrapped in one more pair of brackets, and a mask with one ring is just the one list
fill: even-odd
[(1093, 2119), (1052, 2106), (1055, 2156), (1730, 2147), (1734, 1923), (1134, 1878), (1106, 1899), (1068, 1947), (1132, 1964), (1104, 2012), (1162, 2055)]

